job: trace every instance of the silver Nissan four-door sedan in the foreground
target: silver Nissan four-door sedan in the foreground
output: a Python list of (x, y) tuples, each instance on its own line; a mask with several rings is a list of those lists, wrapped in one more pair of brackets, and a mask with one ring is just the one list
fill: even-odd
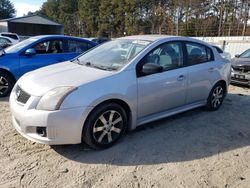
[(35, 142), (107, 148), (139, 125), (200, 106), (218, 110), (230, 69), (199, 40), (119, 38), (23, 76), (10, 96), (12, 121)]

